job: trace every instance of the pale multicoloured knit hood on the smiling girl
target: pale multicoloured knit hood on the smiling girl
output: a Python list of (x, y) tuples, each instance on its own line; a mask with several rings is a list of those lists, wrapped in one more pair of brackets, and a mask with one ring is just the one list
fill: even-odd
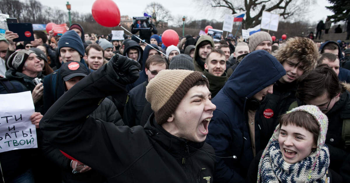
[[(320, 126), (320, 133), (318, 134), (317, 147), (316, 147), (316, 151), (315, 151), (316, 156), (312, 162), (312, 166), (310, 168), (308, 179), (307, 179), (307, 182), (309, 182), (310, 178), (311, 178), (311, 173), (315, 169), (318, 156), (320, 155), (320, 150), (324, 146), (324, 142), (326, 140), (326, 134), (327, 134), (327, 129), (328, 129), (328, 118), (325, 114), (323, 114), (320, 111), (320, 109), (317, 106), (314, 106), (314, 105), (302, 105), (299, 107), (295, 107), (292, 110), (288, 111), (287, 114), (291, 113), (291, 112), (295, 112), (295, 111), (304, 111), (304, 112), (311, 114), (316, 119), (316, 121), (318, 122), (318, 125)], [(260, 182), (262, 160), (264, 159), (266, 152), (267, 152), (268, 148), (270, 147), (272, 141), (278, 140), (278, 136), (280, 134), (280, 129), (281, 129), (280, 126), (277, 125), (275, 131), (273, 132), (271, 139), (268, 141), (268, 144), (267, 144), (266, 148), (264, 149), (264, 152), (261, 155), (260, 162), (259, 162), (259, 169), (258, 169), (258, 182)]]

